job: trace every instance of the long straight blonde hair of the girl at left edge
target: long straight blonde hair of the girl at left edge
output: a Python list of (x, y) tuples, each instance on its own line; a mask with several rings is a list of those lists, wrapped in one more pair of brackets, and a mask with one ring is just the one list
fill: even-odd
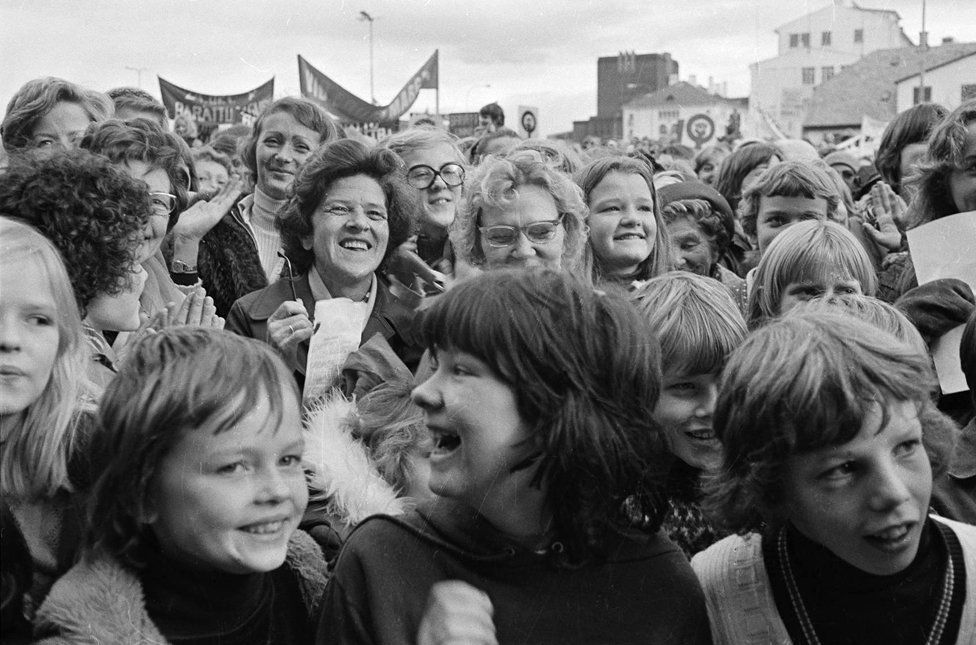
[[(68, 461), (79, 421), (94, 411), (81, 316), (54, 245), (26, 224), (0, 217), (0, 270), (42, 271), (57, 307), (58, 353), (51, 378), (9, 429), (0, 452), (0, 491), (15, 499), (51, 497), (72, 489)], [(16, 269), (14, 267), (17, 267)]]

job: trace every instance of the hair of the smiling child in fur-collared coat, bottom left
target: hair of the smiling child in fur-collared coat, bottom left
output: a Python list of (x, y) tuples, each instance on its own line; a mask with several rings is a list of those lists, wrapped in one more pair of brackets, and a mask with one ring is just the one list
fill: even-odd
[(101, 474), (88, 504), (87, 546), (142, 566), (154, 540), (145, 522), (160, 463), (187, 432), (229, 430), (258, 401), (279, 420), (286, 405), (299, 405), (291, 371), (267, 344), (204, 327), (170, 327), (139, 341), (96, 418), (90, 454)]

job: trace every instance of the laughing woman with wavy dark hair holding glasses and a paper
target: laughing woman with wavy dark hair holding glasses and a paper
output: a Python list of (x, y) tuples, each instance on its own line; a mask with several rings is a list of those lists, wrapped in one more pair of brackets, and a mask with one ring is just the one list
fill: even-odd
[(361, 342), (382, 334), (408, 367), (415, 366), (420, 350), (412, 342), (413, 311), (378, 273), (407, 239), (417, 208), (400, 163), (389, 150), (351, 139), (319, 148), (298, 172), (293, 196), (276, 219), (292, 277), (235, 302), (227, 329), (267, 341), (301, 374), (315, 303), (348, 298), (369, 307)]

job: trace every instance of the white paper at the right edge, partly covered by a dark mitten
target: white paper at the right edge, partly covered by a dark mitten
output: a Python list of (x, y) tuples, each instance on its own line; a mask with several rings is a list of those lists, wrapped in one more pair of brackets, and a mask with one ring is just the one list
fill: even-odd
[[(919, 284), (958, 278), (976, 292), (976, 211), (958, 213), (908, 231)], [(962, 327), (950, 330), (932, 345), (932, 360), (943, 394), (969, 389), (959, 364)]]

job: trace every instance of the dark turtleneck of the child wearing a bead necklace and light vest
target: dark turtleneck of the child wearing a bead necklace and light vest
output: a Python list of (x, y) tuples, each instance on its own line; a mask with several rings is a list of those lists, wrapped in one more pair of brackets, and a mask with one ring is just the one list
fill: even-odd
[[(796, 585), (821, 643), (925, 643), (942, 600), (949, 557), (958, 565), (957, 591), (940, 642), (955, 642), (966, 587), (962, 549), (951, 530), (943, 531), (941, 525), (928, 520), (915, 559), (904, 571), (887, 576), (848, 564), (792, 525), (786, 530)], [(802, 645), (806, 641), (790, 601), (776, 543), (775, 532), (763, 537), (763, 560), (776, 608), (790, 638)]]

